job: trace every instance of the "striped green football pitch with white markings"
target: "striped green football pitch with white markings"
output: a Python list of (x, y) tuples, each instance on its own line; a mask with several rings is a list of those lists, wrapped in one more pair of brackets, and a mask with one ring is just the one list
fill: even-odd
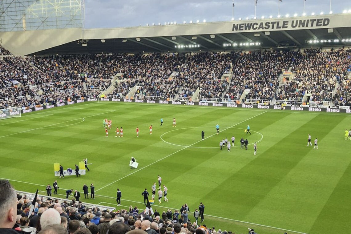
[[(108, 138), (105, 118), (112, 120)], [(142, 210), (141, 193), (147, 188), (151, 198), (151, 186), (160, 175), (169, 199), (161, 204), (155, 199), (153, 209), (160, 213), (187, 203), (194, 221), (192, 212), (203, 202), (204, 223), (216, 230), (342, 233), (351, 220), (351, 140), (344, 136), (350, 120), (346, 113), (145, 103), (57, 107), (0, 121), (0, 177), (17, 190), (34, 193), (38, 188), (44, 191), (40, 194), (57, 179), (59, 198), (71, 188), (83, 195), (83, 184), (94, 183), (96, 199), (81, 200), (108, 206), (117, 205), (119, 188), (121, 208)], [(247, 125), (251, 135), (244, 132)], [(116, 127), (123, 127), (123, 138), (114, 137)], [(318, 138), (318, 149), (306, 146), (307, 134), (312, 144)], [(220, 150), (220, 140), (231, 141), (232, 136), (235, 147)], [(241, 137), (249, 141), (247, 150), (240, 149)], [(138, 160), (137, 169), (128, 166), (131, 156)], [(53, 163), (74, 168), (83, 158), (92, 163), (86, 175), (54, 176)]]

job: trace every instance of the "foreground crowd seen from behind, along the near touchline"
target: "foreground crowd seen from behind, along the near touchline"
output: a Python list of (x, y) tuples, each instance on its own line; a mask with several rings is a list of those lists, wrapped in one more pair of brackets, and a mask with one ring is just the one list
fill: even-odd
[[(69, 201), (40, 196), (34, 204), (32, 198), (16, 194), (6, 180), (0, 180), (0, 195), (5, 216), (0, 219), (0, 233), (125, 234), (135, 230), (130, 234), (232, 234), (199, 224), (200, 219), (203, 222), (199, 213), (202, 203), (194, 212), (190, 212), (188, 205), (184, 204), (180, 210), (172, 212), (167, 209), (160, 213), (155, 209), (153, 214), (137, 206), (113, 211), (99, 206), (88, 207), (75, 199)], [(47, 229), (55, 229), (55, 232)]]

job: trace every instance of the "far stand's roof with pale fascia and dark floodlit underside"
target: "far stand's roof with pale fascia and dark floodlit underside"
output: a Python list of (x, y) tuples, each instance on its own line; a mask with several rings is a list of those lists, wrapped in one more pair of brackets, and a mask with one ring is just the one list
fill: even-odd
[[(31, 43), (32, 47), (23, 48), (23, 53), (147, 53), (350, 46), (351, 14), (63, 30), (67, 31), (32, 31), (31, 36), (38, 37), (38, 42), (24, 42)], [(1, 33), (1, 38), (4, 35)]]

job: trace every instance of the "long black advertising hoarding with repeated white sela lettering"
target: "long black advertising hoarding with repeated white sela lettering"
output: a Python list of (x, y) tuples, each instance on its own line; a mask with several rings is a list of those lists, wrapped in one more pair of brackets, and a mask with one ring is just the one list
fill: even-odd
[(112, 101), (112, 102), (136, 102), (136, 103), (155, 103), (164, 105), (184, 105), (184, 106), (207, 106), (207, 107), (226, 107), (226, 108), (247, 108), (247, 109), (274, 109), (274, 110), (289, 110), (289, 111), (311, 111), (311, 112), (333, 112), (333, 113), (350, 113), (349, 106), (266, 106), (257, 104), (236, 104), (227, 102), (197, 102), (197, 101), (166, 101), (166, 100), (140, 100), (140, 99), (123, 99), (123, 98), (87, 98), (70, 102), (60, 102), (53, 105), (42, 105), (41, 107), (24, 108), (21, 113), (29, 113), (50, 109), (54, 107), (72, 105), (74, 103), (90, 102), (90, 101)]

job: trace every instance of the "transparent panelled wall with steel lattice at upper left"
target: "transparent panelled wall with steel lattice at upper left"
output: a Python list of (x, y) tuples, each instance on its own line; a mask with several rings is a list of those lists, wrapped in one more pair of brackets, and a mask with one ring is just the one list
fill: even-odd
[(2, 0), (0, 31), (84, 27), (83, 0)]

